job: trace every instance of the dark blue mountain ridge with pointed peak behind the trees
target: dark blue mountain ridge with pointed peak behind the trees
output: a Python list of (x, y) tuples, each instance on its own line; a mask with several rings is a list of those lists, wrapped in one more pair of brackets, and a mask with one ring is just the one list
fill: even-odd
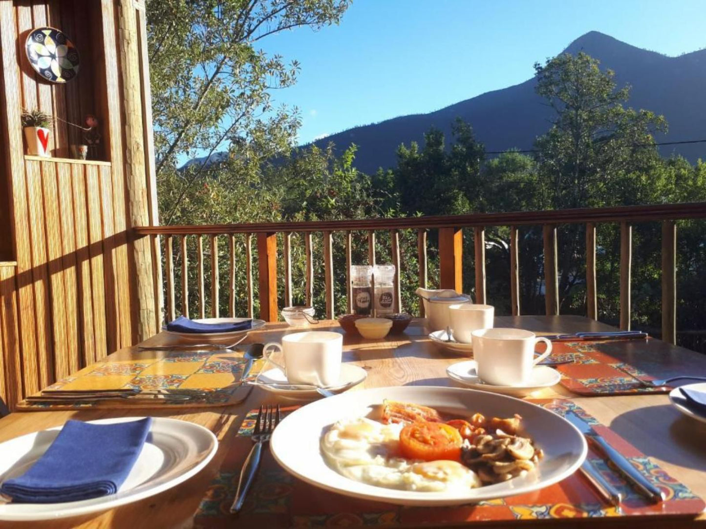
[[(582, 35), (562, 51), (584, 51), (601, 61), (601, 68), (616, 73), (616, 83), (632, 86), (626, 106), (663, 114), (669, 133), (657, 141), (706, 139), (706, 49), (677, 57), (631, 46), (609, 35), (592, 31)], [(542, 59), (542, 58), (538, 58)], [(486, 92), (430, 112), (410, 114), (366, 126), (343, 130), (313, 142), (323, 147), (334, 142), (338, 152), (351, 143), (358, 145), (355, 165), (366, 173), (396, 164), (395, 152), (401, 143), (424, 143), (424, 133), (432, 126), (450, 137), (451, 123), (459, 117), (473, 127), (476, 137), (488, 151), (510, 148), (531, 149), (534, 139), (549, 128), (553, 111), (541, 104), (534, 93), (536, 80)], [(695, 162), (706, 159), (706, 143), (660, 147), (664, 156), (672, 152)]]

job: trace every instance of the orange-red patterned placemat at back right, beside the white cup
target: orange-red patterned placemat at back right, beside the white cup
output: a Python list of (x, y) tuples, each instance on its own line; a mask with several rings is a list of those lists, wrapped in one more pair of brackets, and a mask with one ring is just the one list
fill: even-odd
[[(624, 342), (624, 341), (623, 341)], [(645, 387), (627, 372), (642, 380), (654, 377), (625, 363), (607, 352), (616, 345), (611, 341), (554, 341), (549, 360), (571, 363), (557, 365), (561, 382), (566, 389), (583, 396), (633, 395), (640, 393), (669, 393), (664, 387)], [(625, 370), (625, 371), (621, 371)]]

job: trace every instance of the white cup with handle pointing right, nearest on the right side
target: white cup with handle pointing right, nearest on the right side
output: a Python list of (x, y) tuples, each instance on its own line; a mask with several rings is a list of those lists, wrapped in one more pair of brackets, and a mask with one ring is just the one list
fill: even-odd
[[(537, 343), (546, 351), (534, 358)], [(534, 365), (551, 353), (551, 341), (523, 329), (479, 329), (473, 332), (473, 358), (478, 376), (496, 386), (522, 386), (530, 381)]]

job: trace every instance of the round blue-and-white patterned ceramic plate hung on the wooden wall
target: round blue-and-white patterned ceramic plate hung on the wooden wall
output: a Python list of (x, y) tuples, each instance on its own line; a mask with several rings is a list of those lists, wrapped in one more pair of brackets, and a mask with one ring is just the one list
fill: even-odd
[(54, 28), (36, 28), (27, 36), (25, 51), (32, 68), (52, 83), (76, 77), (80, 57), (64, 33)]

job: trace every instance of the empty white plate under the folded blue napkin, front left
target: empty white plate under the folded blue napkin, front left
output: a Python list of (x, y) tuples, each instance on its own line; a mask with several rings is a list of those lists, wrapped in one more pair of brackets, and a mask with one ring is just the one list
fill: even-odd
[[(112, 424), (138, 420), (120, 417), (91, 420)], [(52, 444), (61, 427), (26, 434), (0, 444), (0, 481), (16, 478)], [(203, 426), (183, 420), (152, 418), (150, 436), (127, 479), (116, 494), (58, 504), (0, 504), (1, 521), (38, 521), (82, 516), (113, 509), (152, 496), (191, 478), (216, 453), (218, 441)], [(100, 446), (92, 457), (100, 456)]]

